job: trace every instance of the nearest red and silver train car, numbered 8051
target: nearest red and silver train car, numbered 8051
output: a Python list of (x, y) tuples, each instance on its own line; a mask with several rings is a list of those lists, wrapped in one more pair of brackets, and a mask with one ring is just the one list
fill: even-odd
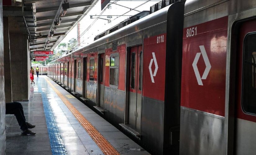
[(255, 0), (186, 1), (180, 154), (255, 154), (255, 32)]

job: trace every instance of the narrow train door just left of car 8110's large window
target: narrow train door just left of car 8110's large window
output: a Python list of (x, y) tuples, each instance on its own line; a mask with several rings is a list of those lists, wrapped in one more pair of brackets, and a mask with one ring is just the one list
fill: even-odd
[(100, 77), (98, 79), (98, 83), (99, 83), (99, 104), (98, 106), (100, 106), (101, 108), (103, 108), (103, 104), (104, 104), (104, 68), (105, 68), (105, 54), (100, 54), (99, 55), (99, 76)]

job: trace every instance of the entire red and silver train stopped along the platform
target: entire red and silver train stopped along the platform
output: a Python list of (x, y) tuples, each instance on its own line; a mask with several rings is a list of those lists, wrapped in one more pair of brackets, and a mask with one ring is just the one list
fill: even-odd
[(255, 25), (255, 0), (162, 1), (48, 76), (152, 154), (254, 154)]

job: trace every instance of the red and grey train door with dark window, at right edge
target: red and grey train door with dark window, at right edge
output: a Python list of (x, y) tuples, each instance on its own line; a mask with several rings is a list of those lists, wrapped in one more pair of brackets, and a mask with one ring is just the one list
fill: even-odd
[(241, 24), (236, 80), (235, 154), (256, 148), (256, 20)]

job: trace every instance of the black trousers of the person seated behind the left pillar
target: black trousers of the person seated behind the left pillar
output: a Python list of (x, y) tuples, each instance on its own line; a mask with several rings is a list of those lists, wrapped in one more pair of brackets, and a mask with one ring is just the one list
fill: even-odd
[(15, 117), (19, 123), (20, 129), (22, 131), (28, 130), (28, 126), (26, 123), (22, 105), (19, 102), (11, 102), (11, 103), (6, 103), (5, 107), (6, 107), (6, 110), (5, 110), (6, 114), (14, 114), (15, 115)]

